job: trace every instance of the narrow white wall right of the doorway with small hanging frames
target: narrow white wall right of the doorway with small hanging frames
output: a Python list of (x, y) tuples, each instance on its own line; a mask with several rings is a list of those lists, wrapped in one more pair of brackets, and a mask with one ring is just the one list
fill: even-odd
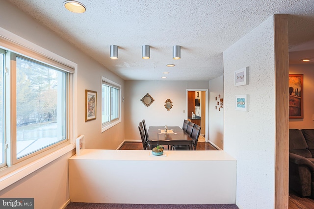
[[(217, 107), (217, 101), (220, 103), (220, 98), (224, 99), (224, 77), (220, 76), (218, 78), (209, 81), (209, 140), (214, 143), (220, 149), (223, 149), (223, 138), (224, 138), (224, 107)], [(215, 100), (217, 97), (217, 100)]]

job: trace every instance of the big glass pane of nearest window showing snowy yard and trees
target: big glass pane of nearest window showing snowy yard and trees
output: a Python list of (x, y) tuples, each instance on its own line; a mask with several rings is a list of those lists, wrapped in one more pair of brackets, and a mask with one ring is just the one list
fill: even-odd
[(16, 157), (66, 137), (66, 72), (16, 57)]

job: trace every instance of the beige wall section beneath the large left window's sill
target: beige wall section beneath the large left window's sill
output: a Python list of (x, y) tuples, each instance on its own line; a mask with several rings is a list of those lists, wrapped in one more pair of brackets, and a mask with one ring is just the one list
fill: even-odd
[(68, 159), (74, 154), (69, 152), (0, 190), (0, 197), (34, 198), (35, 209), (61, 209), (69, 200)]

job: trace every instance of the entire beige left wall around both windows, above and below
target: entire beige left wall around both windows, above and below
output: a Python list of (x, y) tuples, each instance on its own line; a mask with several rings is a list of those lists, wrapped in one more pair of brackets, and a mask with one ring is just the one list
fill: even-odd
[[(122, 122), (101, 133), (101, 76), (122, 85), (124, 80), (105, 69), (78, 48), (60, 39), (46, 27), (34, 21), (7, 1), (0, 3), (0, 27), (27, 41), (78, 64), (76, 73), (78, 87), (74, 92), (78, 97), (77, 135), (85, 135), (85, 147), (94, 149), (116, 149), (124, 139), (124, 106)], [(97, 91), (97, 119), (85, 122), (85, 89)], [(77, 136), (75, 136), (76, 138)], [(30, 174), (19, 182), (0, 191), (0, 197), (34, 197), (35, 208), (59, 209), (68, 200), (67, 159), (69, 152), (45, 167)]]

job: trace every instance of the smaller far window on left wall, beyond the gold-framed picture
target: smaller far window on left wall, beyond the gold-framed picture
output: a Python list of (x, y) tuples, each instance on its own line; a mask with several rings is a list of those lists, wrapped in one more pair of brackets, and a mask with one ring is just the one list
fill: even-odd
[(121, 85), (102, 77), (102, 131), (121, 122)]

